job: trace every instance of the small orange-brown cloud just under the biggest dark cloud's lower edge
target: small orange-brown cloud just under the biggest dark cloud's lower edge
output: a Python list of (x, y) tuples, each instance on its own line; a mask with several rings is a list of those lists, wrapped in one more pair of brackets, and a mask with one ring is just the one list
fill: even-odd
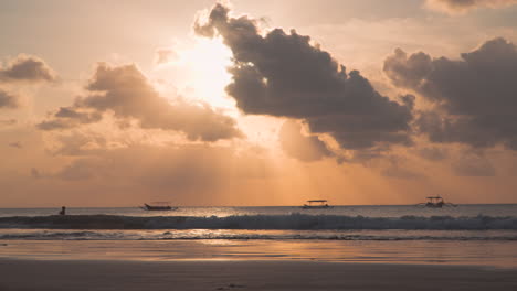
[(284, 122), (279, 130), (279, 141), (285, 153), (300, 161), (313, 162), (334, 155), (318, 137), (304, 136), (302, 126), (294, 120)]

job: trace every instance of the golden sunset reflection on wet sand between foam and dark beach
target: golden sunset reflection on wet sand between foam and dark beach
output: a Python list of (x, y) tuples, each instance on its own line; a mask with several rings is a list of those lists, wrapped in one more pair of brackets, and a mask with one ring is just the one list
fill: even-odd
[(316, 260), (517, 267), (515, 241), (4, 240), (3, 258), (44, 260)]

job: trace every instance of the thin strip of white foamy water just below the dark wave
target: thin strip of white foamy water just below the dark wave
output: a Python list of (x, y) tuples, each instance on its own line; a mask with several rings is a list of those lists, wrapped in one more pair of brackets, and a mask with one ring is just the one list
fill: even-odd
[(52, 230), (1, 229), (0, 240), (517, 240), (516, 230)]

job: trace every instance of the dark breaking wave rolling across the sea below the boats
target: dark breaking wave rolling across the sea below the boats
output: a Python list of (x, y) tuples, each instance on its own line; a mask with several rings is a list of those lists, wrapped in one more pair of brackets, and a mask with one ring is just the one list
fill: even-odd
[(0, 228), (45, 229), (278, 229), (278, 230), (517, 230), (517, 217), (401, 216), (365, 217), (340, 215), (242, 215), (191, 216), (14, 216), (0, 217)]

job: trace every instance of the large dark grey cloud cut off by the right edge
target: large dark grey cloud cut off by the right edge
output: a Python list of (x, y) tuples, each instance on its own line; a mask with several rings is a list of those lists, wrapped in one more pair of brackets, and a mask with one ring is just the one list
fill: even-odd
[(432, 141), (517, 149), (517, 47), (495, 39), (461, 57), (408, 56), (398, 48), (384, 72), (435, 105), (416, 121)]

